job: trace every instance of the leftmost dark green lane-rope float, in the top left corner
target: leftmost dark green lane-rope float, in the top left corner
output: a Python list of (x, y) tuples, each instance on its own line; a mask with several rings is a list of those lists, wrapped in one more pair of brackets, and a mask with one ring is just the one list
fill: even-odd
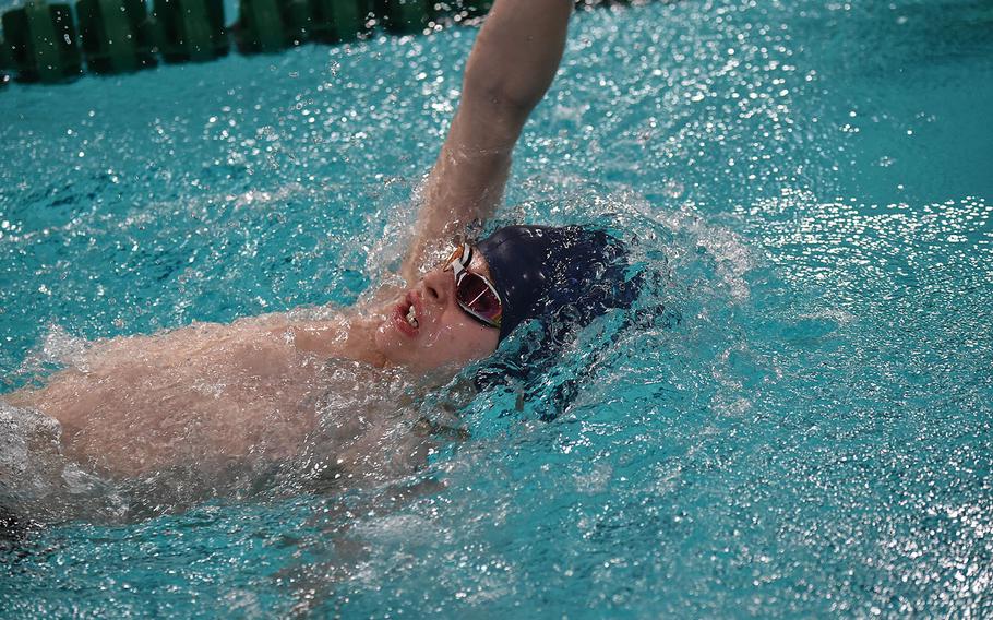
[(69, 4), (28, 2), (3, 14), (11, 64), (25, 82), (55, 83), (83, 71)]

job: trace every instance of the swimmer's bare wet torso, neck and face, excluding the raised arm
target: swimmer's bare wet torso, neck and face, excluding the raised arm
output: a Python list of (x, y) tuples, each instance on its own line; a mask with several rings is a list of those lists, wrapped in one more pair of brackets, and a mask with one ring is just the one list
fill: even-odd
[[(470, 269), (489, 277), (478, 253)], [(43, 388), (3, 400), (58, 419), (62, 453), (107, 477), (189, 463), (212, 472), (244, 458), (292, 458), (319, 427), (322, 398), (352, 393), (356, 382), (370, 393), (380, 390), (374, 377), (354, 369), (335, 379), (328, 360), (394, 369), (411, 385), (430, 386), (495, 350), (499, 331), (458, 307), (451, 271), (439, 266), (416, 287), (394, 293), (375, 310), (330, 319), (277, 313), (100, 341)], [(412, 336), (397, 324), (410, 296), (420, 309)], [(376, 419), (382, 404), (372, 398), (368, 406), (354, 414)], [(327, 448), (344, 470), (364, 477), (372, 464), (382, 469), (379, 453), (395, 424), (335, 418), (326, 441), (338, 443)], [(426, 458), (423, 450), (406, 455), (410, 467)]]

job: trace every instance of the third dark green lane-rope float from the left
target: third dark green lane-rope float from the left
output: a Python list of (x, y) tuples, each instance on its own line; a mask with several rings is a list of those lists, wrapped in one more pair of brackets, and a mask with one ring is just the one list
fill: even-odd
[(158, 49), (166, 62), (204, 61), (230, 49), (223, 0), (155, 0)]

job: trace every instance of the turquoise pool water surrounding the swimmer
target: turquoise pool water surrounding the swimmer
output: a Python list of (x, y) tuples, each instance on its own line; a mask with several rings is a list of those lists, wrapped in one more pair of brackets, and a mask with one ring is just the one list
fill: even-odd
[[(474, 34), (0, 92), (0, 391), (81, 338), (358, 299)], [(379, 488), (110, 489), (9, 546), (0, 615), (993, 613), (990, 100), (985, 1), (578, 14), (501, 220), (619, 214), (681, 321), (591, 327)]]

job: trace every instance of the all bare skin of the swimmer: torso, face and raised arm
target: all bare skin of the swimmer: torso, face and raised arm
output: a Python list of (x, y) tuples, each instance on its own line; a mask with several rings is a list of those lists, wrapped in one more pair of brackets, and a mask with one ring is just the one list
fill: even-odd
[[(572, 0), (498, 0), (490, 11), (423, 188), (402, 269), (406, 289), (383, 289), (368, 306), (331, 317), (289, 312), (100, 341), (44, 386), (0, 398), (58, 419), (67, 456), (108, 476), (136, 476), (180, 463), (206, 469), (294, 456), (319, 422), (320, 400), (358, 389), (354, 377), (330, 379), (327, 360), (400, 369), (423, 384), (491, 355), (499, 331), (458, 307), (453, 275), (439, 262), (451, 239), (500, 204), (514, 145), (561, 60), (572, 9)], [(490, 277), (479, 252), (469, 269)], [(410, 300), (420, 325), (412, 334), (397, 321)], [(361, 440), (346, 427), (342, 446), (351, 456), (342, 460), (356, 467), (388, 431), (380, 425)]]

